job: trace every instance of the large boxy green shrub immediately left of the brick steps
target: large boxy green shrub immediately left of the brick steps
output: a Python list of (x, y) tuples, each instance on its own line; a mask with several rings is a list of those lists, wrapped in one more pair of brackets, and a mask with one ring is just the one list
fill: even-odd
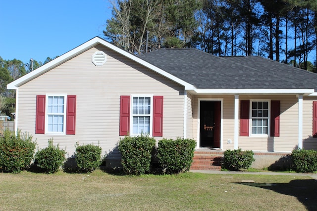
[(164, 173), (189, 170), (193, 162), (196, 141), (193, 139), (162, 139), (159, 141), (158, 159)]

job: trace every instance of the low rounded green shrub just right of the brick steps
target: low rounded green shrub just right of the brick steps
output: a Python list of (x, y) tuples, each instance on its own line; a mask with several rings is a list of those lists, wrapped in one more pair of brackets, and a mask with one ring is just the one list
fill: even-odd
[(221, 168), (227, 170), (248, 169), (252, 162), (255, 161), (253, 155), (254, 153), (251, 150), (226, 150), (223, 153)]

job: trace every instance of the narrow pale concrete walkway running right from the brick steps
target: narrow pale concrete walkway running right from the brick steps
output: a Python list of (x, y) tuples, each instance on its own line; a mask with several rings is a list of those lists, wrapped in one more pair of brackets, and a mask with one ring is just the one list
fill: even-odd
[(288, 176), (310, 176), (317, 179), (317, 173), (284, 173), (284, 172), (249, 172), (249, 171), (221, 171), (221, 170), (189, 170), (197, 173), (213, 174), (253, 174), (253, 175), (288, 175)]

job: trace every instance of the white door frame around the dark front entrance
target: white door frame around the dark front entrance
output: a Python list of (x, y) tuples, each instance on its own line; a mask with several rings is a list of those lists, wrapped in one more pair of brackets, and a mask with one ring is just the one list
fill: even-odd
[(223, 149), (223, 98), (198, 98), (197, 108), (197, 146), (200, 148), (200, 102), (201, 101), (220, 101), (220, 149)]

